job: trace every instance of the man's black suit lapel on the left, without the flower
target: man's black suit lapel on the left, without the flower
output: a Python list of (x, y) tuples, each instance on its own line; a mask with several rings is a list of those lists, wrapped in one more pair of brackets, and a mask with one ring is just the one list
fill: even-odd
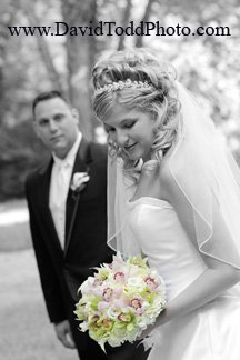
[(62, 253), (62, 248), (60, 246), (51, 210), (49, 208), (49, 192), (52, 164), (53, 159), (51, 159), (48, 166), (40, 171), (40, 186), (38, 199), (42, 214), (42, 227), (46, 227), (47, 231), (49, 231), (49, 239), (51, 239), (51, 243), (53, 244), (54, 249), (58, 248), (58, 250), (60, 250), (60, 253)]

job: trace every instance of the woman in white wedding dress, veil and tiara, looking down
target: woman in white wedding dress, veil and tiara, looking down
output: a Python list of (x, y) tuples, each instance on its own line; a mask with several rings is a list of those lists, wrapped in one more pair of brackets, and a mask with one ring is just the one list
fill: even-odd
[(143, 253), (167, 308), (143, 334), (149, 360), (239, 360), (240, 172), (211, 119), (150, 51), (93, 69), (109, 137), (109, 244)]

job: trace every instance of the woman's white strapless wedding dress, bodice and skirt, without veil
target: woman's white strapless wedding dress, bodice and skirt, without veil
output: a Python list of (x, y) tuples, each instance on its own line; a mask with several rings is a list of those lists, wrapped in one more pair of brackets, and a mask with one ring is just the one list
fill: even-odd
[[(206, 264), (163, 200), (143, 197), (128, 202), (129, 224), (149, 264), (164, 279), (170, 301), (194, 281)], [(148, 360), (240, 360), (240, 287), (188, 316), (159, 327)]]

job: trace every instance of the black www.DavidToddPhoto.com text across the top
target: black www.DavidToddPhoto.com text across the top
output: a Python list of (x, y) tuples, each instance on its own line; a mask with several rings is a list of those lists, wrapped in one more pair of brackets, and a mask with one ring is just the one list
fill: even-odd
[(197, 26), (194, 29), (189, 26), (181, 26), (179, 23), (173, 26), (161, 26), (160, 21), (130, 21), (127, 27), (118, 26), (114, 21), (99, 21), (92, 23), (89, 21), (88, 26), (71, 26), (64, 21), (56, 21), (53, 26), (11, 26), (8, 27), (11, 36), (43, 36), (43, 37), (112, 37), (112, 36), (156, 36), (156, 37), (172, 37), (172, 36), (197, 36), (197, 37), (230, 37), (231, 31), (228, 26)]

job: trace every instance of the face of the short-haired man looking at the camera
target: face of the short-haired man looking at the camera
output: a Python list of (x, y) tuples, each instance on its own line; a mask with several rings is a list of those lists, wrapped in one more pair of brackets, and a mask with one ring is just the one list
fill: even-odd
[(63, 159), (78, 134), (78, 112), (61, 98), (40, 101), (34, 109), (34, 129), (44, 146)]

